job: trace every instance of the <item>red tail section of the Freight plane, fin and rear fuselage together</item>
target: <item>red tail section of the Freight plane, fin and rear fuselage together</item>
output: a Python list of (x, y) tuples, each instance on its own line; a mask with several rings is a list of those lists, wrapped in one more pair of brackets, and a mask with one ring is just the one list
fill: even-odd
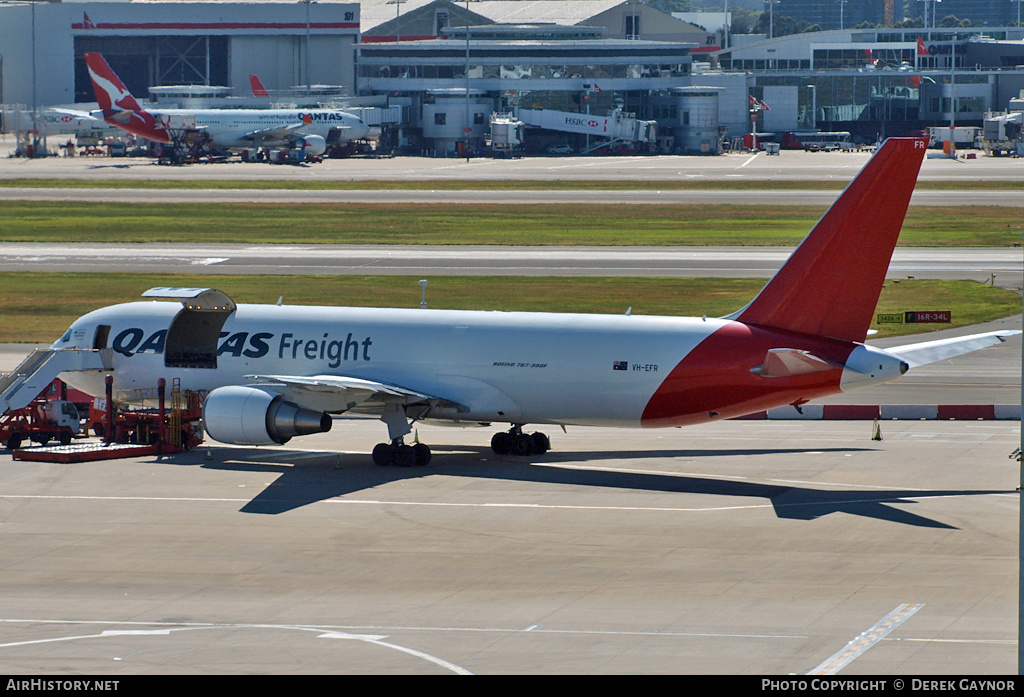
[(672, 369), (644, 426), (800, 405), (898, 378), (901, 357), (863, 346), (927, 143), (890, 138), (757, 298)]

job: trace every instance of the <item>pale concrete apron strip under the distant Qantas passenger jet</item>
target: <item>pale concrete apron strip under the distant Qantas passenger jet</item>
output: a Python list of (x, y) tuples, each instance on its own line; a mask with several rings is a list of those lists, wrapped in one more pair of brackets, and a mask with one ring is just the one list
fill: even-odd
[[(391, 159), (352, 158), (316, 164), (268, 165), (225, 162), (161, 166), (143, 158), (4, 158), (12, 140), (0, 139), (0, 179), (171, 179), (253, 180), (281, 179), (309, 182), (332, 180), (431, 181), (488, 180), (515, 183), (523, 180), (634, 181), (849, 181), (860, 171), (870, 151), (804, 153), (782, 150), (734, 153), (720, 157), (524, 157), (519, 160), (473, 158)], [(953, 181), (1019, 181), (1024, 160), (991, 158), (972, 151), (973, 159), (950, 159), (930, 150), (920, 179)], [(967, 157), (967, 153), (963, 153)], [(514, 188), (514, 187), (512, 187)], [(581, 188), (585, 188), (582, 186)]]

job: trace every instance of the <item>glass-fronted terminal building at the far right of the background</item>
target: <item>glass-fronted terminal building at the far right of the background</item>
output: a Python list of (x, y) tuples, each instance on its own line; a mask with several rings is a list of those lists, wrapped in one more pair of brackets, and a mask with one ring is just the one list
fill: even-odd
[(722, 74), (751, 77), (765, 131), (845, 130), (865, 141), (928, 125), (981, 126), (1024, 89), (1024, 28), (848, 29), (737, 43)]

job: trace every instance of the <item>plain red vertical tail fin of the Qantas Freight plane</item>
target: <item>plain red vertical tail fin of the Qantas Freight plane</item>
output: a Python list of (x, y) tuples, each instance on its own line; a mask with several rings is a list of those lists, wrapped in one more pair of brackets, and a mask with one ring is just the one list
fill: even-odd
[(778, 273), (732, 318), (863, 341), (928, 143), (890, 138)]

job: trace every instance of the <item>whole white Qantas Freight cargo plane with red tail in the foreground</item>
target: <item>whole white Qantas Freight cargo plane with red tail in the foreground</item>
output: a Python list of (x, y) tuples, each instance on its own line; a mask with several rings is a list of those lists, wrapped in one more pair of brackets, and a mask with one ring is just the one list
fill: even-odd
[(494, 449), (530, 454), (550, 441), (527, 424), (684, 426), (799, 406), (1019, 334), (863, 344), (927, 144), (887, 140), (728, 317), (236, 305), (212, 289), (160, 288), (144, 297), (172, 302), (95, 310), (52, 349), (76, 357), (61, 377), (91, 394), (110, 373), (119, 389), (165, 378), (208, 391), (206, 429), (225, 443), (284, 443), (328, 431), (331, 415), (372, 412), (388, 431), (381, 465), (429, 460), (403, 442), (419, 421), (509, 424)]

